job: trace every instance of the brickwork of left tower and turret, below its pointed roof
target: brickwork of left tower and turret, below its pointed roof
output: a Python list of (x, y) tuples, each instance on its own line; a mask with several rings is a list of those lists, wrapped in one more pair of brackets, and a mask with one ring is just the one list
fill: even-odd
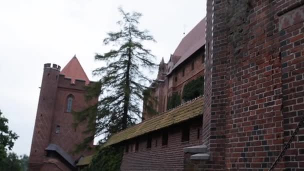
[[(74, 160), (80, 155), (91, 154), (91, 151), (72, 153), (76, 144), (81, 143), (87, 135), (82, 133), (85, 130), (85, 124), (74, 128), (73, 116), (70, 112), (66, 112), (69, 95), (73, 96), (72, 110), (74, 111), (84, 109), (97, 101), (97, 99), (85, 101), (84, 86), (85, 81), (76, 79), (74, 83), (71, 83), (70, 78), (60, 74), (60, 66), (56, 64), (51, 66), (50, 63), (44, 65), (29, 154), (29, 170), (70, 170), (62, 166), (60, 160), (46, 157), (44, 149), (50, 143), (60, 146)], [(58, 133), (56, 133), (57, 126), (60, 126)], [(93, 142), (90, 145), (93, 145)]]

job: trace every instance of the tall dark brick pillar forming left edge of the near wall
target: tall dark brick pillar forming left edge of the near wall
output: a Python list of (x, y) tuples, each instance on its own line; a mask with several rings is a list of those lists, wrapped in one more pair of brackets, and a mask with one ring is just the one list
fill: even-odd
[(225, 114), (227, 101), (226, 0), (207, 0), (205, 85), (203, 106), (203, 143), (210, 155), (206, 166), (223, 170), (225, 147)]

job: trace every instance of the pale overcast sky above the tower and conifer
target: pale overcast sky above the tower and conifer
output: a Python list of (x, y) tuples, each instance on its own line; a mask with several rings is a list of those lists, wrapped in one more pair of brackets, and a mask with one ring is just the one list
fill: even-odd
[(143, 14), (157, 62), (206, 14), (206, 0), (0, 0), (0, 109), (19, 135), (14, 152), (29, 154), (43, 63), (63, 67), (76, 54), (96, 80), (93, 56), (108, 49), (102, 39), (117, 30), (118, 6)]

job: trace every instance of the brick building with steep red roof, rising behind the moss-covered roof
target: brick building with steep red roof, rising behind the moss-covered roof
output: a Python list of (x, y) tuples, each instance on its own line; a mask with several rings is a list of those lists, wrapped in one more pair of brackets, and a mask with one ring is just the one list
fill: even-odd
[[(173, 54), (170, 55), (169, 61), (165, 63), (163, 58), (160, 61), (157, 77), (150, 85), (150, 99), (145, 101), (157, 113), (168, 109), (168, 99), (173, 93), (177, 93), (181, 96), (180, 100), (183, 100), (183, 87), (189, 81), (203, 76), (205, 24), (205, 18), (203, 18), (182, 38)], [(153, 115), (154, 112), (149, 112), (144, 105), (142, 118), (147, 119)]]

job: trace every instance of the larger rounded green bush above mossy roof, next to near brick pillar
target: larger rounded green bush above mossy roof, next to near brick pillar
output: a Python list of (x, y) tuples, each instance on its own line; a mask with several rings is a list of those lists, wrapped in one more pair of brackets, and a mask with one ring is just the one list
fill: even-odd
[(203, 84), (204, 84), (203, 76), (199, 76), (198, 78), (193, 79), (187, 84), (185, 84), (182, 90), (182, 99), (184, 101), (188, 101), (202, 95)]

